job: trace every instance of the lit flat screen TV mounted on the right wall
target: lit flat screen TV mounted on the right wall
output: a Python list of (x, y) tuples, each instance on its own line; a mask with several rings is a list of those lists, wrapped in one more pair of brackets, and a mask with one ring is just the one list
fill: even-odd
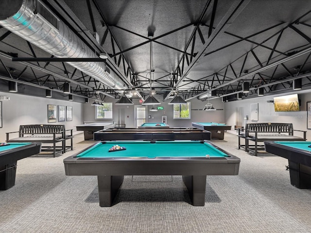
[(273, 101), (274, 101), (274, 110), (276, 112), (299, 111), (298, 94), (274, 97)]

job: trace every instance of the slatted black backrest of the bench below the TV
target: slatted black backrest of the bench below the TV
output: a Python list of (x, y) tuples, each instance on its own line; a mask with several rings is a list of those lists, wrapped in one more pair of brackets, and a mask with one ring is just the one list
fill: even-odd
[(294, 133), (292, 123), (248, 123), (245, 129), (259, 133), (289, 133), (291, 135)]

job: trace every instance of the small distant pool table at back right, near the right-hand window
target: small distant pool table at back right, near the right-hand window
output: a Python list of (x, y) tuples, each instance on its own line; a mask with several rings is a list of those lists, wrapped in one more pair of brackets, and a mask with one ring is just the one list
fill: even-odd
[(192, 122), (192, 126), (211, 133), (211, 139), (224, 140), (225, 130), (231, 130), (231, 125), (214, 122)]

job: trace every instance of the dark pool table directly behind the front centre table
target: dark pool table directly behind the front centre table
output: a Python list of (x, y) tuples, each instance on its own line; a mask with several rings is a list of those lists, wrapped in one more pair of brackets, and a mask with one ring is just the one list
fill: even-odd
[(210, 140), (210, 132), (197, 128), (119, 128), (95, 132), (94, 140)]

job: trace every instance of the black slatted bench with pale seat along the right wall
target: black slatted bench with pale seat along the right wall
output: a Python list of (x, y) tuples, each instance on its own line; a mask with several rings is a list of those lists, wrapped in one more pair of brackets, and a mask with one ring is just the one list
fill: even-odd
[[(245, 129), (238, 129), (239, 149), (244, 148), (246, 152), (258, 154), (259, 149), (264, 149), (264, 145), (259, 142), (264, 141), (306, 141), (307, 131), (294, 130), (292, 123), (249, 123)], [(294, 131), (303, 132), (303, 137), (294, 136)], [(241, 139), (245, 144), (241, 144)], [(254, 145), (249, 142), (253, 141)]]

